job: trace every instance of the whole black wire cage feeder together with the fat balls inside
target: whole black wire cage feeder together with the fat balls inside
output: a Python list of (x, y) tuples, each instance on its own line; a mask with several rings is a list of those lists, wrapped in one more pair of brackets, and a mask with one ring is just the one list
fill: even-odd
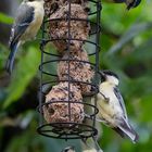
[[(38, 132), (60, 139), (96, 136), (96, 100), (85, 102), (84, 98), (98, 93), (101, 2), (46, 0), (45, 4)], [(51, 43), (58, 51), (50, 48)], [(85, 46), (93, 51), (87, 52)]]

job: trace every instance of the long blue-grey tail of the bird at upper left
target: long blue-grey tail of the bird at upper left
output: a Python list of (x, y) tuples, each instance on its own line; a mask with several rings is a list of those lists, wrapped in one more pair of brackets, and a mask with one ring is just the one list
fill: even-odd
[(15, 54), (17, 52), (17, 48), (18, 48), (18, 42), (10, 45), (11, 52), (9, 54), (9, 58), (8, 58), (8, 61), (7, 61), (7, 64), (5, 64), (5, 69), (8, 71), (9, 74), (12, 73)]

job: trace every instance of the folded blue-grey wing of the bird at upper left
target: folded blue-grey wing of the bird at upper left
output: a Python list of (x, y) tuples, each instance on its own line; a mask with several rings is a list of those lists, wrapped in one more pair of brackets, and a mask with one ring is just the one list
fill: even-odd
[(17, 15), (15, 17), (15, 23), (12, 26), (11, 37), (10, 37), (10, 48), (15, 42), (18, 41), (20, 37), (28, 27), (29, 23), (34, 20), (34, 8), (22, 3), (17, 9)]

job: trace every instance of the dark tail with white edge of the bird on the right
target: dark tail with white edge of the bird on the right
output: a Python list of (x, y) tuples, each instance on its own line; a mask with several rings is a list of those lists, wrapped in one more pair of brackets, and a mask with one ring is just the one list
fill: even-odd
[(134, 128), (128, 124), (127, 119), (123, 119), (123, 123), (114, 128), (122, 137), (128, 137), (131, 139), (134, 143), (136, 143), (139, 139), (138, 134), (134, 130)]

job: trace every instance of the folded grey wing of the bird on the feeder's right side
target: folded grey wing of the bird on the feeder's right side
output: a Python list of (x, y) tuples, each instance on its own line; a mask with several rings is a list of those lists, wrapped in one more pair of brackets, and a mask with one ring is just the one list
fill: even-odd
[(122, 97), (122, 94), (119, 92), (119, 89), (117, 87), (114, 87), (114, 93), (115, 93), (116, 98), (119, 101), (119, 105), (121, 105), (121, 107), (123, 110), (123, 113), (124, 113), (125, 118), (128, 119), (126, 107), (125, 107), (125, 103), (124, 103), (124, 99), (123, 99), (123, 97)]

